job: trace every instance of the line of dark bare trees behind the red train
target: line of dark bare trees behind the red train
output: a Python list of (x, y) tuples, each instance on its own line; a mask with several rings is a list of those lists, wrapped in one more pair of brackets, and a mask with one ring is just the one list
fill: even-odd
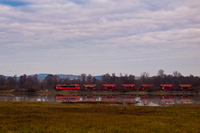
[(79, 84), (81, 88), (83, 84), (96, 84), (97, 88), (100, 88), (102, 84), (116, 84), (117, 88), (120, 88), (121, 84), (135, 84), (136, 87), (140, 87), (141, 84), (154, 84), (155, 86), (173, 84), (174, 87), (178, 87), (179, 84), (192, 84), (193, 87), (200, 87), (200, 77), (183, 76), (178, 71), (173, 72), (172, 75), (167, 75), (162, 69), (158, 71), (156, 76), (150, 77), (148, 72), (143, 72), (139, 78), (132, 74), (116, 76), (115, 73), (111, 75), (107, 73), (102, 75), (101, 79), (97, 79), (91, 74), (81, 74), (77, 78), (69, 79), (49, 74), (40, 81), (37, 75), (27, 76), (24, 74), (20, 77), (0, 75), (0, 90), (14, 89), (15, 91), (36, 92), (39, 90), (55, 90), (57, 84)]

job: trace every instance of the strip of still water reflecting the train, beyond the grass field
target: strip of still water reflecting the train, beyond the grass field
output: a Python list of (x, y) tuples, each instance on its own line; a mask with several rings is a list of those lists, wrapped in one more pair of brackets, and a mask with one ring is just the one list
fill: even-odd
[(200, 104), (200, 95), (0, 95), (0, 101), (111, 102), (135, 106)]

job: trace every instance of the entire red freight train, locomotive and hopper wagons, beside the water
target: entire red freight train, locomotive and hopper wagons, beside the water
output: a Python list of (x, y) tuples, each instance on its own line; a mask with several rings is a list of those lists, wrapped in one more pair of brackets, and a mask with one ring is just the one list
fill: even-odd
[(56, 90), (101, 90), (101, 91), (155, 91), (155, 90), (192, 90), (190, 84), (180, 84), (178, 88), (174, 88), (172, 84), (160, 84), (155, 87), (153, 84), (141, 84), (140, 88), (136, 88), (135, 84), (122, 84), (121, 88), (116, 88), (115, 84), (103, 84), (100, 89), (97, 89), (96, 84), (83, 84), (80, 89), (78, 84), (58, 84)]

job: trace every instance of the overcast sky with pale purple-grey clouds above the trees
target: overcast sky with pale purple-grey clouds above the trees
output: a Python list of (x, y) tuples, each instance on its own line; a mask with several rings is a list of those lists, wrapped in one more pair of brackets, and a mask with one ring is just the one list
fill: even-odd
[(200, 76), (199, 0), (0, 0), (0, 74)]

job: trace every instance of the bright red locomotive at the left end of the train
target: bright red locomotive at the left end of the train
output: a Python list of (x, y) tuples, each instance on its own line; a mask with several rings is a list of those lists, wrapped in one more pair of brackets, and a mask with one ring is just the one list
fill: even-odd
[(56, 90), (79, 90), (80, 86), (78, 84), (58, 84)]

